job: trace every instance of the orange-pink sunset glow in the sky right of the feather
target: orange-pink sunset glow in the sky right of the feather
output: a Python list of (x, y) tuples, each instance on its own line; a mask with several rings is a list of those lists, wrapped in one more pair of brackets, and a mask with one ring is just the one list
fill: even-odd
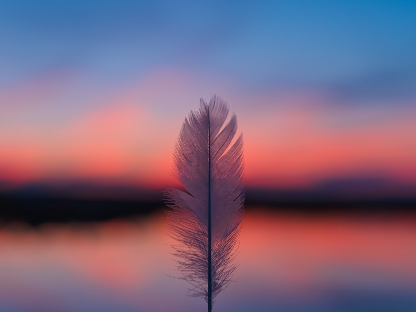
[[(300, 186), (317, 179), (375, 172), (416, 181), (415, 108), (387, 112), (383, 118), (356, 125), (354, 119), (362, 118), (360, 111), (349, 112), (343, 125), (345, 109), (308, 105), (282, 109), (278, 104), (262, 115), (243, 115), (248, 181)], [(338, 123), (328, 123), (331, 120)]]

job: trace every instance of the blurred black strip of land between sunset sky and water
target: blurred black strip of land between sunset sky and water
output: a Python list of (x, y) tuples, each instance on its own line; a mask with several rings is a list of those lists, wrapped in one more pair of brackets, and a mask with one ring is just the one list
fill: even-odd
[[(0, 192), (0, 222), (100, 221), (166, 209), (163, 188), (32, 183)], [(309, 188), (247, 187), (246, 206), (300, 213), (416, 213), (416, 189), (388, 183), (335, 181)]]

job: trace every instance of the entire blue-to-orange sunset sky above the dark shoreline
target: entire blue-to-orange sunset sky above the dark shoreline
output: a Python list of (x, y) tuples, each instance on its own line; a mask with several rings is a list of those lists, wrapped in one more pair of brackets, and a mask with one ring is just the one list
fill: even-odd
[(2, 1), (0, 186), (171, 184), (211, 94), (248, 186), (415, 186), (415, 38), (415, 1)]

